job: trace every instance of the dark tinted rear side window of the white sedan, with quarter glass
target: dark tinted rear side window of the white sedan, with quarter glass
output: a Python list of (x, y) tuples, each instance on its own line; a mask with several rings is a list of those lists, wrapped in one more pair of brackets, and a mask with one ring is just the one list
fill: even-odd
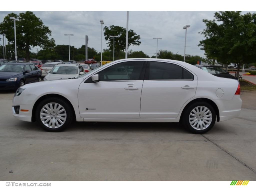
[(193, 80), (193, 75), (183, 67), (165, 62), (150, 62), (147, 69), (149, 80)]

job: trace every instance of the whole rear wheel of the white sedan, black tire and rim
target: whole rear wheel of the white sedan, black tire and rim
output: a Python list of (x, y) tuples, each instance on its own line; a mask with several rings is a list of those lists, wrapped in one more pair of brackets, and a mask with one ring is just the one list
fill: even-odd
[(195, 134), (203, 134), (214, 126), (216, 112), (214, 108), (206, 102), (196, 102), (188, 106), (182, 117), (183, 125)]

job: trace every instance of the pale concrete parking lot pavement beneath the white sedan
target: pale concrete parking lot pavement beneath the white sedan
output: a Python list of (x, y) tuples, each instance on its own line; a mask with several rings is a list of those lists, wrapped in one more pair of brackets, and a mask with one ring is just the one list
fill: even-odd
[(13, 117), (13, 95), (0, 93), (1, 181), (256, 181), (255, 92), (241, 92), (238, 118), (202, 135), (176, 123), (74, 122), (45, 132)]

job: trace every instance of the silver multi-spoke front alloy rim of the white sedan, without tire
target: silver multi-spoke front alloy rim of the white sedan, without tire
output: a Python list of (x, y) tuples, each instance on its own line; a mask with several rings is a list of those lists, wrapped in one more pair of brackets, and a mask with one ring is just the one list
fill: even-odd
[(56, 129), (65, 123), (67, 113), (62, 105), (58, 103), (47, 103), (40, 111), (40, 119), (45, 126)]

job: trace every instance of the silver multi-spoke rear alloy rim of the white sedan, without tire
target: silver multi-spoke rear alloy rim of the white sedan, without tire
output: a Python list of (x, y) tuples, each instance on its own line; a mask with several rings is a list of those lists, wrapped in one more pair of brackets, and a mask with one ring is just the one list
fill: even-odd
[(189, 114), (189, 123), (196, 130), (206, 129), (212, 122), (212, 113), (206, 106), (197, 106)]

